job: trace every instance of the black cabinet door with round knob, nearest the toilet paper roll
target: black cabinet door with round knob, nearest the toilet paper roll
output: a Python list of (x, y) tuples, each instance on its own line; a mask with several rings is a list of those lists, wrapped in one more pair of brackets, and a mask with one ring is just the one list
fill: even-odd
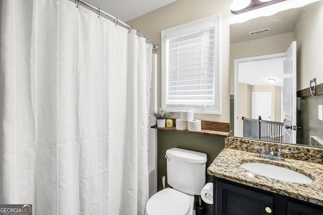
[(274, 196), (216, 181), (216, 215), (274, 214)]

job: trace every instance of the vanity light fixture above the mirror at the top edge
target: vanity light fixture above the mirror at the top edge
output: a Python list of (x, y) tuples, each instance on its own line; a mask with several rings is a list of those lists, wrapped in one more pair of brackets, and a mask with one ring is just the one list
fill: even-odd
[(237, 15), (283, 1), (286, 0), (233, 0), (230, 10), (231, 13)]

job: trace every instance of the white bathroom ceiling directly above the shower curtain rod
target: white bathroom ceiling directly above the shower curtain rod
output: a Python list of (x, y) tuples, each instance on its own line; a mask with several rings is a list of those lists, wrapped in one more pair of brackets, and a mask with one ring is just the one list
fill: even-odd
[(100, 10), (128, 22), (176, 0), (84, 0)]

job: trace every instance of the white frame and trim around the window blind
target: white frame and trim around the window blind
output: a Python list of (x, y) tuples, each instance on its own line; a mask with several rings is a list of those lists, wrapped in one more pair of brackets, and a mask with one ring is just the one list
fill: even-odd
[[(200, 114), (221, 114), (221, 56), (220, 56), (220, 14), (195, 20), (179, 26), (175, 26), (161, 31), (161, 106), (171, 112), (180, 112), (184, 109), (194, 110), (194, 113)], [(203, 26), (209, 25), (210, 22), (214, 23), (214, 107), (172, 107), (166, 106), (167, 90), (168, 90), (168, 42), (167, 40), (181, 35), (185, 35), (192, 30), (201, 30)]]

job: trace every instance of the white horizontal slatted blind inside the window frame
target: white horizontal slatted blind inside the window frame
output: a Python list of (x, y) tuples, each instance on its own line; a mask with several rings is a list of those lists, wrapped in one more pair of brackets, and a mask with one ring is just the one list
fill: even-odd
[(214, 28), (168, 41), (167, 106), (214, 106)]

